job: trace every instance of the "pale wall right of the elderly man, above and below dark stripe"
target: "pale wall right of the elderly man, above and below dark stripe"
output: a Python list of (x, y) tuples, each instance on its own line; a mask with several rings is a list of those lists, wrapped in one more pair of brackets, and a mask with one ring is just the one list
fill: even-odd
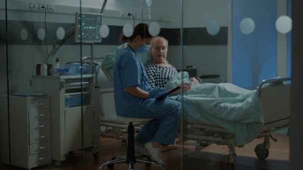
[[(177, 1), (177, 3), (176, 3)], [(170, 0), (171, 27), (181, 26), (181, 4)], [(228, 45), (184, 46), (183, 68), (195, 65), (198, 75), (219, 74), (224, 82), (230, 82), (231, 55), (228, 55), (231, 37), (231, 0), (183, 0), (183, 27), (206, 27), (210, 20), (217, 20), (220, 26), (227, 26)], [(168, 61), (181, 68), (180, 46), (169, 46)]]

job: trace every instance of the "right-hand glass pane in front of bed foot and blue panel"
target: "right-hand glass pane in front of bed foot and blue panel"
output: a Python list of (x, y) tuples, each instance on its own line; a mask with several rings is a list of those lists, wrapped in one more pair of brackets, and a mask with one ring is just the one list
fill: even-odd
[(291, 0), (181, 8), (183, 67), (200, 81), (183, 91), (181, 168), (288, 169)]

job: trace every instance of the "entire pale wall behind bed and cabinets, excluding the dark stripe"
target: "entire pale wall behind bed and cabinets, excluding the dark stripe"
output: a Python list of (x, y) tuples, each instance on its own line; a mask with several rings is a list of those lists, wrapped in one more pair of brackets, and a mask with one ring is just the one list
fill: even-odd
[[(76, 2), (75, 2), (76, 1)], [(99, 0), (91, 0), (84, 1), (82, 0), (83, 6), (86, 7), (96, 7), (101, 6), (102, 3)], [(135, 12), (140, 12), (140, 0), (108, 0), (106, 9), (129, 9)], [(184, 1), (184, 27), (204, 27), (208, 19), (216, 19), (222, 23), (221, 26), (228, 26), (226, 23), (228, 21), (228, 9), (226, 5), (228, 4), (226, 1), (230, 0), (185, 0)], [(14, 2), (14, 3), (13, 3)], [(46, 0), (32, 0), (32, 3), (44, 3), (48, 2)], [(10, 1), (9, 5), (13, 5), (16, 3), (16, 0)], [(78, 6), (77, 0), (53, 0), (52, 4), (60, 4), (60, 5), (72, 5)], [(165, 6), (170, 5), (170, 8), (166, 8)], [(146, 5), (144, 5), (146, 6)], [(101, 8), (101, 7), (100, 7)], [(212, 8), (218, 9), (220, 12), (213, 12)], [(174, 0), (168, 0), (161, 2), (159, 0), (152, 1), (152, 14), (156, 13), (154, 10), (159, 11), (160, 13), (165, 11), (166, 13), (179, 13), (177, 12), (180, 9), (180, 4), (175, 3)], [(201, 10), (202, 9), (202, 10)], [(161, 11), (162, 10), (162, 11)], [(199, 12), (203, 11), (200, 17)], [(164, 12), (164, 13), (165, 13)], [(207, 13), (211, 14), (207, 14)], [(8, 13), (9, 19), (11, 20), (36, 20), (43, 21), (44, 13), (43, 12), (24, 12), (24, 11), (9, 11)], [(225, 17), (225, 19), (224, 19)], [(200, 19), (201, 22), (197, 22)], [(208, 19), (207, 19), (208, 18)], [(123, 25), (127, 20), (126, 19), (118, 19), (118, 18), (107, 18), (111, 20), (114, 25)], [(178, 28), (179, 22), (178, 15), (172, 15), (171, 23), (169, 27)], [(74, 22), (74, 15), (70, 14), (53, 14), (47, 16), (48, 21), (53, 22)], [(224, 22), (223, 22), (224, 21)], [(104, 19), (106, 22), (106, 18)], [(139, 21), (138, 21), (139, 22)], [(163, 22), (164, 23), (164, 22)], [(161, 24), (161, 23), (160, 23)], [(166, 25), (167, 26), (167, 25)], [(161, 25), (162, 27), (162, 25)], [(17, 35), (19, 36), (19, 35)], [(95, 55), (103, 56), (108, 52), (114, 52), (117, 46), (95, 46)], [(31, 88), (29, 86), (29, 80), (31, 79), (31, 75), (35, 74), (35, 65), (42, 62), (42, 48), (44, 49), (44, 58), (45, 58), (45, 46), (41, 45), (9, 45), (8, 53), (10, 59), (10, 91), (11, 92), (29, 92)], [(50, 51), (52, 47), (48, 46)], [(82, 56), (89, 56), (89, 46), (83, 46), (83, 54)], [(56, 57), (60, 57), (60, 64), (64, 65), (64, 63), (69, 61), (78, 61), (80, 59), (80, 46), (75, 45), (64, 45), (56, 54)], [(168, 52), (168, 60), (170, 63), (175, 65), (178, 69), (181, 68), (180, 64), (180, 46), (170, 46)], [(198, 62), (197, 62), (198, 61)], [(54, 64), (54, 60), (52, 61)], [(227, 46), (186, 46), (184, 48), (184, 62), (183, 66), (187, 65), (195, 65), (198, 69), (198, 75), (204, 74), (220, 74), (224, 80), (226, 80), (227, 73)]]

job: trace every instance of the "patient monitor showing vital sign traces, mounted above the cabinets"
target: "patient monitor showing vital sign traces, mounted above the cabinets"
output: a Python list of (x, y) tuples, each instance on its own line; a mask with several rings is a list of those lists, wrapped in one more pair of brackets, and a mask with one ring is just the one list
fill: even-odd
[(75, 41), (81, 42), (82, 37), (82, 42), (101, 42), (99, 33), (101, 25), (101, 13), (76, 12)]

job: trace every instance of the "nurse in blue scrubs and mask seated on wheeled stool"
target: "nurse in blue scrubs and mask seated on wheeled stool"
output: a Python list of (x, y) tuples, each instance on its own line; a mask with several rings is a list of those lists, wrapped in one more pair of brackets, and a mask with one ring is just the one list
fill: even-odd
[[(160, 144), (174, 143), (181, 106), (175, 100), (155, 100), (165, 90), (160, 87), (151, 90), (146, 70), (137, 55), (146, 52), (152, 41), (148, 25), (140, 23), (134, 27), (131, 37), (122, 35), (121, 38), (128, 41), (128, 46), (120, 51), (115, 63), (116, 111), (125, 117), (152, 118), (136, 136), (136, 150), (163, 164)], [(147, 149), (147, 154), (144, 149)]]

